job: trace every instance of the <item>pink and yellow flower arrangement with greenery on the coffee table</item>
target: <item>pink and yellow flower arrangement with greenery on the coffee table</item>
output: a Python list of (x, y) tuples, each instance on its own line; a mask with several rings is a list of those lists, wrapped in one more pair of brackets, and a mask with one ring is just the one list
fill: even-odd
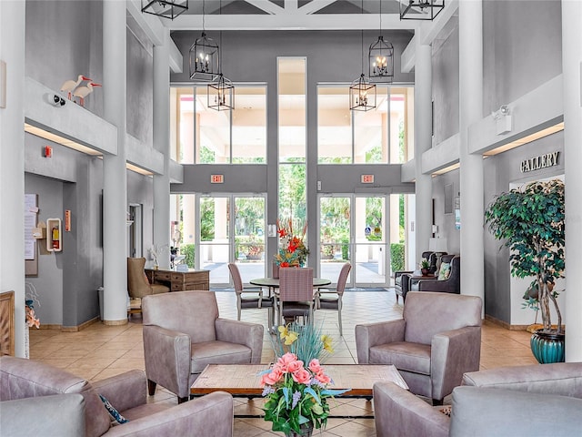
[(312, 324), (291, 323), (278, 330), (280, 335), (273, 345), (277, 361), (261, 379), (265, 420), (273, 422), (273, 431), (308, 436), (314, 427), (326, 426), (327, 398), (347, 390), (330, 390), (332, 381), (319, 362), (332, 351), (329, 337)]

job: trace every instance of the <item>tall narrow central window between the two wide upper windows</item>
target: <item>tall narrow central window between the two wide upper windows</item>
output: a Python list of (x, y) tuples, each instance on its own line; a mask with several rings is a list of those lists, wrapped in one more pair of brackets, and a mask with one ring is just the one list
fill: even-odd
[(279, 217), (306, 219), (306, 58), (278, 66)]

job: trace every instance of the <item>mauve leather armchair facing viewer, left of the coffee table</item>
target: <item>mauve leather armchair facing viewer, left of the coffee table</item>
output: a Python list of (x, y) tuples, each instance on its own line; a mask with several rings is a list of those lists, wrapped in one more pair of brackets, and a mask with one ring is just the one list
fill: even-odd
[(146, 296), (144, 355), (149, 394), (161, 384), (187, 401), (190, 387), (207, 364), (258, 364), (263, 325), (218, 316), (211, 291)]

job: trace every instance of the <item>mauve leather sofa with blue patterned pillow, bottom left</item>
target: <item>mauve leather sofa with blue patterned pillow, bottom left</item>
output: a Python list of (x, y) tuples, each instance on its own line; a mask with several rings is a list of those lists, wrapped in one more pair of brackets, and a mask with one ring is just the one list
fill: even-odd
[[(167, 401), (147, 403), (144, 371), (127, 371), (90, 383), (48, 364), (9, 356), (0, 357), (2, 435), (12, 435), (9, 432), (5, 433), (5, 430), (17, 425), (17, 422), (13, 421), (22, 419), (13, 419), (7, 414), (8, 411), (14, 410), (14, 404), (11, 402), (28, 400), (26, 403), (32, 405), (35, 399), (30, 398), (69, 394), (82, 395), (85, 404), (85, 432), (76, 435), (86, 437), (233, 435), (233, 399), (228, 393), (214, 392), (181, 405)], [(105, 408), (101, 396), (128, 422), (115, 421), (114, 415)], [(56, 413), (55, 408), (45, 408), (37, 412), (35, 421), (44, 422), (48, 426), (54, 422)], [(46, 430), (48, 428), (40, 434), (28, 435), (50, 435)], [(61, 434), (56, 432), (53, 435)]]

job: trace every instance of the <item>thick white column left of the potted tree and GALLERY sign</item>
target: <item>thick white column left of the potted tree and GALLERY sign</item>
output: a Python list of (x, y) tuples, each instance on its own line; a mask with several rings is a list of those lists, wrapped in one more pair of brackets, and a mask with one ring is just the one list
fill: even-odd
[(461, 190), (461, 293), (484, 298), (483, 159), (468, 152), (468, 127), (483, 117), (483, 5), (461, 0), (459, 28), (459, 132)]

